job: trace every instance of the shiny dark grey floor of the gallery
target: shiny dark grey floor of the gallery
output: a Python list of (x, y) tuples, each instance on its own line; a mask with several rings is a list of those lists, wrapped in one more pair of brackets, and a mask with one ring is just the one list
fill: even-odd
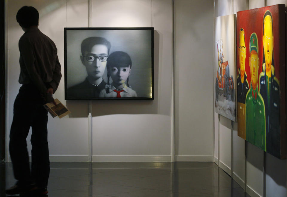
[[(0, 196), (15, 184), (0, 164)], [(249, 196), (213, 162), (51, 162), (50, 197)]]

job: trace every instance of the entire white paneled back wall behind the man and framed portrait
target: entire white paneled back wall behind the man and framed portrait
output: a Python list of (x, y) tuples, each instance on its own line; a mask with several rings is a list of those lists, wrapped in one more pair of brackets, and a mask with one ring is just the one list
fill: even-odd
[[(39, 11), (39, 29), (58, 48), (63, 76), (54, 98), (72, 112), (49, 115), (51, 161), (88, 161), (89, 153), (92, 161), (171, 161), (173, 133), (176, 161), (213, 160), (213, 0), (175, 1), (175, 72), (172, 0), (6, 0), (8, 135), (24, 33), (16, 13), (24, 5)], [(64, 100), (64, 28), (89, 26), (154, 27), (154, 100)]]

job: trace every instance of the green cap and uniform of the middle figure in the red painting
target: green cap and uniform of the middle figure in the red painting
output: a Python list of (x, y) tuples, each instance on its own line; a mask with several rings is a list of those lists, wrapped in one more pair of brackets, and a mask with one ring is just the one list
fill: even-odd
[[(250, 36), (249, 52), (251, 53), (251, 51), (255, 51), (258, 55), (258, 42), (256, 33), (252, 33)], [(249, 66), (252, 67), (252, 64)], [(264, 100), (258, 90), (257, 78), (255, 90), (252, 87), (251, 80), (251, 87), (246, 94), (245, 110), (246, 140), (266, 151), (265, 105)]]

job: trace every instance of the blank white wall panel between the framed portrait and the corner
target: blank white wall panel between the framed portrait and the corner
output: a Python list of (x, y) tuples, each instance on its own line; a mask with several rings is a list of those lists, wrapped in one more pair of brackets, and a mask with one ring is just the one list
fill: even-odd
[(175, 1), (175, 161), (213, 160), (213, 1)]

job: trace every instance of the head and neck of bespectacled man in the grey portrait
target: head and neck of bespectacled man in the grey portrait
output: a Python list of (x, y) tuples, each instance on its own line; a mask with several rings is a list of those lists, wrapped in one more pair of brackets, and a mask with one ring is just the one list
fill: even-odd
[(91, 84), (98, 85), (103, 81), (102, 76), (106, 69), (110, 48), (109, 41), (102, 37), (88, 37), (83, 40), (80, 58), (86, 67), (88, 81)]

